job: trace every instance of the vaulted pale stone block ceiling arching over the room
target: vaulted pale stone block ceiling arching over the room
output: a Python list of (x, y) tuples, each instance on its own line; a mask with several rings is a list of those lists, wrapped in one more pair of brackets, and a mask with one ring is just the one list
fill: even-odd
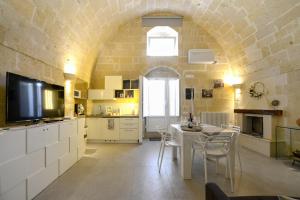
[(300, 40), (299, 0), (0, 0), (0, 43), (53, 67), (73, 62), (89, 80), (118, 26), (156, 11), (191, 17), (216, 38), (235, 73), (299, 61), (288, 49)]

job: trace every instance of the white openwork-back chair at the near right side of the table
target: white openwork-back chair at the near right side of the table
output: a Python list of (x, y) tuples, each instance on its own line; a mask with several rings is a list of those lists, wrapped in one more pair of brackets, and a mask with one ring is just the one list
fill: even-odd
[[(220, 134), (220, 135), (205, 135), (201, 134), (193, 143), (193, 159), (195, 151), (199, 151), (203, 156), (204, 165), (204, 181), (207, 183), (207, 159), (213, 158), (216, 161), (219, 159), (226, 159), (226, 174), (229, 171), (229, 179), (231, 192), (233, 192), (232, 166), (230, 160), (230, 153), (232, 151), (234, 141), (234, 133)], [(217, 164), (217, 163), (216, 163)]]

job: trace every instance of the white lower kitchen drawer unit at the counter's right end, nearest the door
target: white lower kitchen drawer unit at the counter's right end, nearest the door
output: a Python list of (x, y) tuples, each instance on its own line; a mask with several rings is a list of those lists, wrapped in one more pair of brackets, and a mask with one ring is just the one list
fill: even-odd
[(120, 119), (120, 140), (139, 139), (139, 119), (121, 118)]

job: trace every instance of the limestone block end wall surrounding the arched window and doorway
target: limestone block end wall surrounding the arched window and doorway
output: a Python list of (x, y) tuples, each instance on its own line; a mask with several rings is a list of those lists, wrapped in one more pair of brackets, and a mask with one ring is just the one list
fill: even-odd
[[(181, 75), (182, 112), (189, 112), (190, 103), (184, 99), (186, 87), (195, 88), (196, 113), (201, 111), (233, 112), (233, 90), (226, 86), (214, 90), (214, 97), (203, 99), (202, 89), (213, 87), (213, 79), (223, 79), (230, 71), (224, 50), (204, 29), (184, 17), (182, 27), (173, 27), (179, 33), (179, 56), (148, 57), (147, 31), (142, 27), (141, 18), (122, 25), (112, 40), (100, 51), (91, 77), (91, 88), (104, 88), (105, 75), (122, 75), (124, 79), (136, 79), (154, 67), (171, 67)], [(216, 54), (217, 64), (190, 65), (187, 61), (189, 49), (211, 48)], [(194, 78), (186, 75), (193, 74)]]

